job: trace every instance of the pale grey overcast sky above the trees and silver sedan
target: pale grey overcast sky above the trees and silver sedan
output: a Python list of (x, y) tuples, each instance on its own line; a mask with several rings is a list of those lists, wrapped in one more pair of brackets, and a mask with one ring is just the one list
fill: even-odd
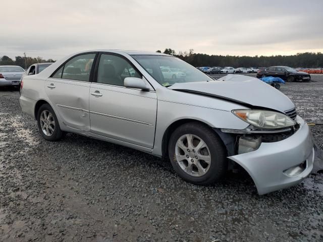
[(88, 49), (323, 52), (323, 0), (4, 0), (0, 56)]

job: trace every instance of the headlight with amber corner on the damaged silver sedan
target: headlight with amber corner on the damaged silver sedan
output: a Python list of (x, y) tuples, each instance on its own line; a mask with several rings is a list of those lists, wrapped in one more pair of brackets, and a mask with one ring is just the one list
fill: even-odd
[(280, 112), (256, 109), (240, 109), (232, 112), (245, 122), (260, 129), (282, 129), (296, 124), (292, 118)]

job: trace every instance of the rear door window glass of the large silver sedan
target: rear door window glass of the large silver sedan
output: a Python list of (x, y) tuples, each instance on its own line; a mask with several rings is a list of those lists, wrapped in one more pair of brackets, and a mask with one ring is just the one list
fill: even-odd
[(88, 82), (94, 57), (95, 54), (82, 54), (70, 59), (64, 65), (62, 78)]

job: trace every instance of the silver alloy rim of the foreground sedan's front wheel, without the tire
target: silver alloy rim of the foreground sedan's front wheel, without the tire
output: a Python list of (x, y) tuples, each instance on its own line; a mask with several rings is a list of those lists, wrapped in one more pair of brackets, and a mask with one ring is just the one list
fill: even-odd
[(211, 154), (206, 143), (198, 136), (181, 136), (175, 147), (175, 159), (187, 174), (202, 176), (210, 168)]

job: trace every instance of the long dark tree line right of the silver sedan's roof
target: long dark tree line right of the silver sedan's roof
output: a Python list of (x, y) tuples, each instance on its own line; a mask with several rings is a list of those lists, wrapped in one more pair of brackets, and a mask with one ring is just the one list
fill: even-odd
[[(157, 50), (156, 52), (161, 53), (160, 50)], [(294, 55), (238, 56), (194, 53), (193, 49), (176, 53), (174, 49), (166, 48), (163, 53), (177, 56), (194, 67), (238, 68), (288, 66), (294, 68), (323, 68), (323, 53), (321, 52), (305, 52)]]

